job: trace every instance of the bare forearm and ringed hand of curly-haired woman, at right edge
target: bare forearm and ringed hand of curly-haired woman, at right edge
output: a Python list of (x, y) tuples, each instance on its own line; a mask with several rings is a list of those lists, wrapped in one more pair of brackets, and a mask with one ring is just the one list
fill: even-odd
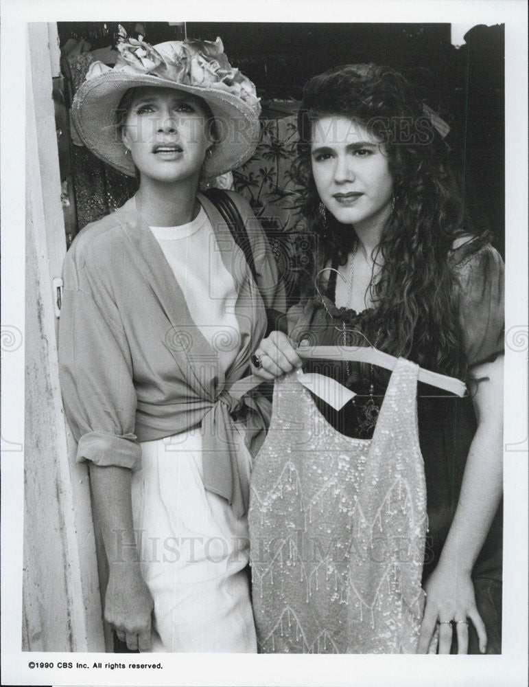
[[(475, 607), (471, 572), (502, 496), (503, 357), (476, 366), (473, 397), (478, 428), (471, 443), (458, 507), (438, 565), (425, 585), (426, 607), (419, 653), (427, 651), (437, 620), (470, 620), (486, 650), (486, 633)], [(456, 623), (458, 653), (467, 653), (468, 630)], [(440, 625), (439, 653), (449, 653), (452, 629)]]

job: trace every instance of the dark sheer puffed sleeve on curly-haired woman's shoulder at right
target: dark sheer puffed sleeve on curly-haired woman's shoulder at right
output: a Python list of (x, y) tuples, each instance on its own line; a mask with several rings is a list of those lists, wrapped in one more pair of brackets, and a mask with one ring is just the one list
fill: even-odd
[(459, 324), (469, 367), (504, 352), (504, 263), (486, 245), (456, 265)]

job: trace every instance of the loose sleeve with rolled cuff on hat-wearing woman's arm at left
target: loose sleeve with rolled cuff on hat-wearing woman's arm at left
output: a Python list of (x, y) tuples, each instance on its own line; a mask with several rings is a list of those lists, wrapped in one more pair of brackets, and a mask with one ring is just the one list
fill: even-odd
[(59, 324), (60, 385), (78, 442), (77, 460), (138, 469), (137, 396), (128, 342), (116, 313), (82, 284), (83, 270), (67, 256)]

